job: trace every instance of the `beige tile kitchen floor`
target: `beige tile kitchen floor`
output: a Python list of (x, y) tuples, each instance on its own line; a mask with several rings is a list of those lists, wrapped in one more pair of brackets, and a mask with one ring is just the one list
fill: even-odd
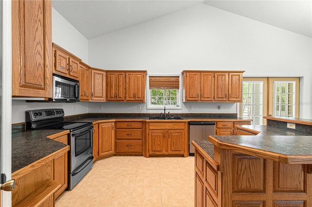
[(194, 207), (194, 156), (98, 160), (56, 207)]

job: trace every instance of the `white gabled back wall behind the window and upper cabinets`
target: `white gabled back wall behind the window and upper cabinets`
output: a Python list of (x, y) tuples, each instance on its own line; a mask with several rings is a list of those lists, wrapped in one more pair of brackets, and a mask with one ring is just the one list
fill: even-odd
[[(96, 68), (139, 69), (153, 74), (200, 69), (245, 70), (244, 76), (249, 77), (303, 76), (300, 118), (312, 119), (311, 42), (309, 37), (198, 4), (91, 39), (88, 59)], [(192, 104), (196, 112), (210, 112), (216, 107), (215, 103)], [(188, 111), (188, 105), (183, 105), (182, 112)], [(236, 104), (222, 105), (228, 109), (216, 113), (236, 113)], [(128, 112), (138, 111), (133, 104), (103, 106), (110, 112), (120, 111), (120, 106)], [(90, 103), (89, 112), (95, 111), (98, 104)]]

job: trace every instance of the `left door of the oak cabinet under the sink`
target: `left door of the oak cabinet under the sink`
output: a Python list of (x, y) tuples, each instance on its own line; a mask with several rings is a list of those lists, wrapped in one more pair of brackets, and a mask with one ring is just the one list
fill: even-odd
[(165, 152), (165, 131), (149, 131), (149, 154), (164, 155)]

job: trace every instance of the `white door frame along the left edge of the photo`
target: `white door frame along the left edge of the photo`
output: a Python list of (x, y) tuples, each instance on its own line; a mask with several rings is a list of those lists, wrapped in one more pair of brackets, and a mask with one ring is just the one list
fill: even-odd
[[(1, 0), (2, 11), (0, 24), (2, 30), (0, 71), (1, 71), (1, 173), (6, 174), (6, 180), (12, 174), (12, 22), (11, 0)], [(12, 206), (11, 191), (1, 190), (1, 206)]]

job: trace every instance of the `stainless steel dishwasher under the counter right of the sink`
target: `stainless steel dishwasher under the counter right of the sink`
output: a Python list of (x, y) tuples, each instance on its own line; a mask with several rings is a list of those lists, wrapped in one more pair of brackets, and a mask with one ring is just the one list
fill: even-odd
[(209, 135), (215, 135), (215, 121), (190, 121), (190, 155), (194, 155), (195, 149), (192, 140), (208, 140)]

